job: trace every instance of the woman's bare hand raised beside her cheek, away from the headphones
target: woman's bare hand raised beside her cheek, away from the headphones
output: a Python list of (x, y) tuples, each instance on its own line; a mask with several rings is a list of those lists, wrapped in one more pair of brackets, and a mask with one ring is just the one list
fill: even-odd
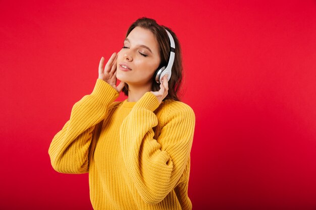
[(112, 54), (106, 66), (104, 66), (104, 70), (103, 70), (103, 63), (104, 63), (104, 57), (101, 57), (101, 60), (99, 63), (98, 79), (101, 79), (107, 82), (115, 90), (117, 90), (117, 92), (120, 93), (124, 87), (124, 82), (121, 81), (121, 83), (118, 86), (116, 86), (117, 53), (115, 52)]

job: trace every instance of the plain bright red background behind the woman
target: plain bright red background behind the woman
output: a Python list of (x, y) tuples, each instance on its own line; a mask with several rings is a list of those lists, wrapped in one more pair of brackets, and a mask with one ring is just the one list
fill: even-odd
[(1, 1), (0, 208), (92, 209), (48, 147), (143, 16), (182, 44), (193, 209), (316, 209), (316, 2), (298, 0)]

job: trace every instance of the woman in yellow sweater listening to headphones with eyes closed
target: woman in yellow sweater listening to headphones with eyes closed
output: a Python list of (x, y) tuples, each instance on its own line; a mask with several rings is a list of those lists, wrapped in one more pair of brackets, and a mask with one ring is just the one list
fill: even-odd
[[(166, 30), (174, 38), (175, 59), (169, 84), (169, 74), (159, 84), (155, 72), (171, 54)], [(73, 106), (52, 139), (52, 167), (88, 172), (94, 209), (191, 209), (195, 115), (177, 96), (182, 63), (175, 34), (152, 19), (138, 19), (120, 52), (104, 68), (103, 62), (102, 57), (94, 90)], [(128, 98), (114, 102), (121, 91)]]

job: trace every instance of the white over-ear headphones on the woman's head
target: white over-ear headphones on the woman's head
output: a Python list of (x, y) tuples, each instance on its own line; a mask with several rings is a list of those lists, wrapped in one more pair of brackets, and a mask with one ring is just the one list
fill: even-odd
[(168, 74), (168, 81), (170, 80), (171, 69), (172, 69), (173, 62), (175, 60), (175, 51), (176, 51), (175, 41), (172, 35), (170, 34), (170, 32), (167, 29), (165, 30), (167, 31), (167, 34), (170, 40), (170, 57), (169, 57), (168, 65), (161, 67), (155, 73), (155, 80), (158, 84), (162, 83), (164, 76), (167, 74)]

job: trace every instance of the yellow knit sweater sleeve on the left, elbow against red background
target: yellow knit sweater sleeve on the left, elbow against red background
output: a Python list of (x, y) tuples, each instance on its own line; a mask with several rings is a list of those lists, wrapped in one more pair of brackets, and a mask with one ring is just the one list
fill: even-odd
[(75, 103), (70, 119), (50, 143), (48, 154), (52, 167), (61, 173), (87, 173), (89, 147), (97, 123), (108, 112), (109, 105), (119, 96), (103, 80), (97, 79), (90, 95)]

